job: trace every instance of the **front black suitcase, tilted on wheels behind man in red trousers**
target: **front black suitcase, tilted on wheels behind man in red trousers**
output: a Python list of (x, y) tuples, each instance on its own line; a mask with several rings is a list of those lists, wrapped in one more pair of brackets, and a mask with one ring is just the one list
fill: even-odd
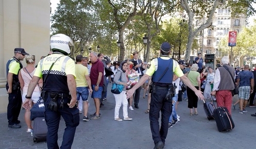
[(219, 132), (234, 129), (235, 124), (226, 107), (214, 109), (213, 115)]

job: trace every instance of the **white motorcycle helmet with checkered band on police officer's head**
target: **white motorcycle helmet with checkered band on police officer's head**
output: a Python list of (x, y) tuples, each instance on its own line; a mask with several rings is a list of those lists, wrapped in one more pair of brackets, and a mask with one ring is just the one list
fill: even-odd
[(59, 51), (65, 55), (71, 53), (71, 48), (74, 47), (72, 39), (64, 34), (56, 34), (50, 37), (50, 48), (53, 52)]

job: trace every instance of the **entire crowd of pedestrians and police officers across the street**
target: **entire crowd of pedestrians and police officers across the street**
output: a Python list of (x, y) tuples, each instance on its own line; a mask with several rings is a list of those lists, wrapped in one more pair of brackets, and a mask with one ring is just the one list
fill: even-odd
[[(71, 148), (76, 127), (79, 125), (79, 113), (83, 121), (101, 118), (100, 108), (107, 101), (108, 84), (121, 85), (120, 93), (114, 93), (115, 110), (113, 120), (132, 120), (128, 110), (139, 109), (141, 89), (143, 98), (148, 99), (145, 113), (149, 114), (150, 129), (154, 148), (163, 148), (168, 129), (178, 121), (178, 105), (182, 100), (188, 101), (189, 115), (198, 115), (198, 100), (212, 100), (218, 107), (226, 107), (231, 114), (231, 107), (239, 103), (240, 114), (246, 111), (249, 100), (254, 105), (256, 71), (250, 71), (248, 65), (244, 71), (236, 70), (229, 65), (229, 58), (221, 59), (222, 66), (216, 70), (204, 66), (201, 53), (195, 63), (184, 60), (173, 60), (168, 55), (172, 46), (163, 42), (159, 48), (160, 56), (153, 58), (150, 67), (146, 61), (139, 59), (134, 52), (133, 58), (111, 63), (109, 57), (102, 53), (91, 52), (89, 58), (77, 55), (75, 60), (69, 57), (74, 46), (69, 36), (56, 34), (50, 38), (51, 52), (41, 57), (35, 67), (35, 56), (25, 52), (23, 48), (15, 48), (14, 56), (6, 64), (9, 94), (8, 127), (20, 128), (18, 120), (21, 105), (25, 108), (26, 132), (31, 133), (33, 127), (30, 120), (30, 109), (40, 98), (44, 100), (45, 120), (47, 124), (47, 147), (59, 148), (58, 128), (60, 116), (66, 123), (61, 147)], [(26, 60), (23, 68), (20, 60)], [(233, 81), (235, 80), (235, 81)], [(233, 84), (234, 82), (235, 84)], [(232, 104), (232, 91), (239, 89), (240, 100)], [(95, 113), (88, 115), (88, 97), (95, 105)], [(123, 109), (123, 117), (119, 115)], [(161, 124), (159, 124), (161, 111)], [(256, 113), (252, 114), (256, 117)]]

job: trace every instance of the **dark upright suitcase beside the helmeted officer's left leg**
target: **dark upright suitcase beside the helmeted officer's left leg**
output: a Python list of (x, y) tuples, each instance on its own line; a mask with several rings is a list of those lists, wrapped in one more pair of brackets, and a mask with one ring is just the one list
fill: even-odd
[(33, 124), (33, 141), (46, 141), (47, 125), (44, 117), (37, 117)]

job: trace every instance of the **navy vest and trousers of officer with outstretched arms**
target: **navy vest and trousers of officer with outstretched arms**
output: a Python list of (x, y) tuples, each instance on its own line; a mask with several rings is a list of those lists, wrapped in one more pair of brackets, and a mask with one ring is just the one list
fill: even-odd
[[(157, 71), (152, 75), (152, 88), (149, 120), (152, 138), (155, 144), (165, 143), (168, 132), (168, 120), (172, 114), (172, 98), (166, 100), (169, 85), (173, 83), (173, 59), (157, 58)], [(165, 70), (166, 73), (164, 74)], [(159, 129), (159, 112), (161, 111), (161, 127)]]

